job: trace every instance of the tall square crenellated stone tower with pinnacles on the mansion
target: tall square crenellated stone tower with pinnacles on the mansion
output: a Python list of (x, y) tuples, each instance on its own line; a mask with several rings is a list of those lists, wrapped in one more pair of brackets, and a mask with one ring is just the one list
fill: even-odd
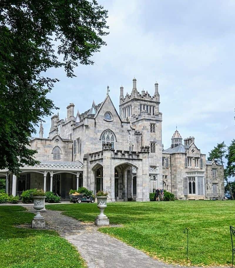
[(162, 113), (159, 111), (159, 105), (157, 82), (153, 96), (144, 89), (139, 93), (135, 78), (130, 95), (127, 93), (124, 97), (123, 86), (120, 87), (120, 117), (122, 121), (130, 121), (135, 131), (142, 134), (141, 145), (150, 147), (149, 164), (159, 166), (160, 187), (162, 183)]

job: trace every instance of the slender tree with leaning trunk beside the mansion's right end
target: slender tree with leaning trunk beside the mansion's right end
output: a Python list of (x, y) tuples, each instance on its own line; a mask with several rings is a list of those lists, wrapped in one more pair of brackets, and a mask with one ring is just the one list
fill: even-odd
[[(209, 156), (207, 157), (207, 160), (215, 160), (216, 163), (220, 165), (224, 165), (224, 158), (226, 157), (226, 144), (224, 142), (218, 143), (217, 146), (214, 147), (214, 149), (209, 152)], [(234, 199), (233, 192), (230, 188), (230, 183), (228, 181), (228, 175), (227, 175), (227, 169), (224, 169), (224, 180), (226, 181), (226, 186), (229, 189), (229, 192), (231, 194), (231, 198)]]

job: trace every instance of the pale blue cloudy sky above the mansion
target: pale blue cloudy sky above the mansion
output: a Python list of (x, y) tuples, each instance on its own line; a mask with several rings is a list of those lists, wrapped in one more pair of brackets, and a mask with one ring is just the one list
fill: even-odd
[[(76, 78), (62, 69), (48, 72), (60, 79), (48, 95), (60, 107), (60, 118), (73, 102), (75, 114), (110, 97), (119, 110), (124, 96), (143, 88), (154, 94), (159, 83), (164, 149), (176, 125), (182, 138), (195, 137), (202, 153), (235, 138), (234, 14), (235, 1), (101, 1), (108, 9), (107, 46), (94, 54), (93, 66), (79, 66)], [(57, 111), (56, 111), (57, 113)], [(51, 119), (44, 123), (48, 137)], [(38, 130), (38, 129), (37, 129)]]

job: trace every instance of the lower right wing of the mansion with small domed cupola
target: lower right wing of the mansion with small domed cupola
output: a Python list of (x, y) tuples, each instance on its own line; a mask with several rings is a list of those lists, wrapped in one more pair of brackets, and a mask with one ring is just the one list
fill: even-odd
[(194, 144), (194, 137), (184, 139), (183, 145), (182, 137), (176, 130), (171, 147), (162, 151), (162, 164), (163, 184), (169, 183), (165, 177), (171, 178), (171, 192), (176, 199), (224, 197), (224, 167), (215, 161), (206, 161), (206, 155)]

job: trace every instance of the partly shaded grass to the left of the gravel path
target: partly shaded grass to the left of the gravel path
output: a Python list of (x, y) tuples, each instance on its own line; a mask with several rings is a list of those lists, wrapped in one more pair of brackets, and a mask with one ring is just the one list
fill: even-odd
[(34, 214), (20, 206), (0, 207), (1, 268), (85, 268), (79, 253), (54, 231), (16, 228)]

